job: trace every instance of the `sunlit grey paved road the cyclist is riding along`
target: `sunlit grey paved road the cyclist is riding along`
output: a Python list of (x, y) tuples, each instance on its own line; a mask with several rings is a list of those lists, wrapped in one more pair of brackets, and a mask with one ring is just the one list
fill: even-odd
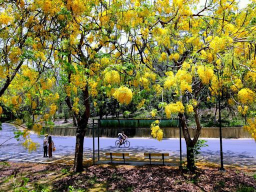
[[(13, 130), (16, 128), (10, 124), (2, 123), (2, 130), (0, 131), (0, 143), (13, 136)], [(30, 134), (33, 141), (38, 142), (40, 146), (36, 152), (43, 154), (42, 140), (43, 136)], [(56, 146), (56, 151), (53, 155), (72, 155), (75, 147), (74, 136), (52, 136)], [(179, 139), (170, 138), (157, 141), (152, 138), (129, 138), (130, 147), (115, 147), (114, 142), (116, 138), (102, 137), (100, 141), (100, 152), (104, 151), (125, 151), (131, 153), (142, 152), (169, 152), (171, 158), (179, 158)], [(208, 147), (201, 149), (199, 159), (202, 161), (219, 162), (219, 139), (206, 138)], [(256, 142), (253, 139), (223, 139), (223, 157), (224, 164), (236, 164), (240, 166), (256, 167)], [(97, 149), (97, 138), (95, 138), (95, 149)], [(27, 152), (27, 150), (12, 138), (0, 146), (0, 154), (6, 152)], [(84, 153), (87, 157), (92, 157), (92, 138), (84, 138)], [(97, 154), (97, 151), (96, 153)], [(185, 159), (185, 142), (182, 139), (182, 156)]]

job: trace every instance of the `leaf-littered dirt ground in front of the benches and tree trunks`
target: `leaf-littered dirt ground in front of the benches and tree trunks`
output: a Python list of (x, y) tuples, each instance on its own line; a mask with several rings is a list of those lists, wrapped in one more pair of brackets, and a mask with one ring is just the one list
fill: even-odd
[(191, 173), (178, 167), (90, 165), (81, 173), (70, 166), (0, 162), (0, 191), (256, 191), (256, 170), (199, 165)]

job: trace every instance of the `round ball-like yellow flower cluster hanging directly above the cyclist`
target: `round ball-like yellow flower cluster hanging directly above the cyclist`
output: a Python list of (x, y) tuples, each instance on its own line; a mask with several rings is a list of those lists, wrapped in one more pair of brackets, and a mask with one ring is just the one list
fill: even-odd
[(121, 104), (129, 104), (132, 99), (132, 91), (126, 86), (120, 86), (113, 94), (117, 101)]

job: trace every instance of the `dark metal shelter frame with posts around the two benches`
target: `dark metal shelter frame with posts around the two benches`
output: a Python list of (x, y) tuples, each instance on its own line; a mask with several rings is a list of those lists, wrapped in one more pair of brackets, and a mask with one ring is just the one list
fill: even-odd
[[(95, 120), (97, 122), (95, 122)], [(117, 127), (113, 127), (113, 128), (121, 128), (120, 126), (120, 120), (137, 120), (138, 124), (139, 124), (139, 120), (157, 120), (157, 119), (117, 119), (117, 118), (106, 118), (106, 119), (100, 119), (100, 118), (93, 118), (92, 119), (92, 147), (93, 147), (93, 164), (95, 164), (95, 131), (94, 131), (94, 125), (97, 124), (97, 156), (98, 156), (98, 161), (99, 161), (99, 128), (102, 128), (100, 125), (100, 120), (118, 120), (118, 126)], [(181, 167), (181, 162), (182, 162), (182, 156), (181, 156), (181, 125), (180, 125), (180, 120), (179, 119), (161, 119), (161, 120), (176, 120), (178, 126), (175, 127), (179, 127), (179, 162), (180, 162), (180, 167)], [(140, 126), (137, 126), (140, 127)], [(122, 127), (125, 128), (125, 127)], [(148, 127), (149, 128), (149, 127)]]

